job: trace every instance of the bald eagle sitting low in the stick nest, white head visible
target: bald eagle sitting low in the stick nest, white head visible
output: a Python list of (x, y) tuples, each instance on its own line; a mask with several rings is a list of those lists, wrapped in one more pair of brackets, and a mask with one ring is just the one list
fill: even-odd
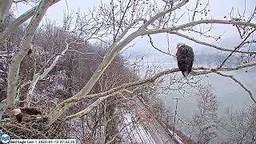
[(14, 116), (18, 122), (29, 122), (31, 120), (42, 118), (36, 116), (38, 114), (42, 114), (42, 112), (33, 107), (22, 107), (19, 109), (14, 109), (12, 112), (14, 113)]

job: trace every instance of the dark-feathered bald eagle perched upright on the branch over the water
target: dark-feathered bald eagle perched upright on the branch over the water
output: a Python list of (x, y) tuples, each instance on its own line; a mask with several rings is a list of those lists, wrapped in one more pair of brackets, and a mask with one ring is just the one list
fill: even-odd
[(184, 43), (178, 43), (177, 45), (177, 62), (178, 69), (182, 71), (185, 78), (190, 74), (193, 62), (194, 62), (194, 52), (190, 46), (186, 46)]

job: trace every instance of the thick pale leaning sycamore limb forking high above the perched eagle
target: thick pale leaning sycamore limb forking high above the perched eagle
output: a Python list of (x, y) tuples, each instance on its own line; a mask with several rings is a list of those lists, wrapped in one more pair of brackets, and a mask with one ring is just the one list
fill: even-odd
[[(100, 78), (102, 73), (106, 70), (106, 67), (110, 65), (110, 63), (113, 61), (114, 57), (118, 55), (120, 50), (122, 50), (125, 46), (127, 46), (127, 44), (132, 42), (134, 40), (134, 38), (137, 38), (138, 36), (147, 35), (147, 34), (175, 32), (177, 30), (182, 30), (182, 29), (185, 29), (190, 26), (196, 26), (199, 24), (207, 24), (207, 23), (242, 25), (242, 26), (251, 26), (253, 28), (256, 28), (256, 25), (254, 23), (250, 23), (250, 22), (236, 22), (236, 21), (229, 21), (229, 20), (207, 19), (207, 20), (188, 22), (188, 23), (180, 25), (180, 26), (173, 26), (173, 27), (168, 27), (168, 28), (164, 28), (164, 29), (147, 30), (148, 26), (150, 26), (150, 24), (152, 24), (158, 18), (164, 16), (165, 14), (169, 14), (171, 11), (178, 9), (181, 6), (184, 6), (187, 2), (188, 2), (188, 0), (183, 0), (178, 5), (174, 6), (172, 9), (160, 12), (160, 13), (156, 14), (153, 18), (150, 18), (150, 20), (148, 20), (148, 21), (141, 19), (142, 21), (144, 21), (144, 24), (140, 28), (138, 28), (138, 30), (136, 30), (134, 33), (128, 35), (126, 38), (123, 38), (123, 40), (121, 40), (122, 37), (124, 37), (128, 31), (128, 30), (125, 30), (125, 34), (121, 34), (122, 37), (118, 38), (118, 40), (110, 46), (110, 51), (108, 51), (106, 53), (106, 55), (104, 56), (104, 58), (102, 60), (102, 63), (100, 64), (100, 66), (98, 66), (98, 69), (94, 72), (94, 74), (90, 78), (89, 82), (86, 83), (86, 86), (84, 86), (82, 88), (82, 90), (78, 92), (78, 94), (74, 95), (71, 98), (66, 99), (64, 102), (61, 102), (60, 104), (58, 104), (58, 106), (56, 106), (54, 108), (52, 113), (49, 115), (50, 121), (48, 124), (51, 125), (56, 119), (58, 119), (61, 116), (61, 114), (63, 114), (63, 112), (65, 112), (67, 109), (69, 109), (70, 106), (74, 106), (74, 104), (76, 104), (76, 100), (75, 100), (76, 98), (83, 99), (83, 98), (90, 97), (90, 95), (87, 95), (87, 94), (89, 94), (89, 92), (92, 89), (92, 87), (94, 86), (94, 84), (98, 81), (98, 78)], [(206, 71), (207, 70), (205, 70), (203, 72), (206, 74)], [(92, 106), (88, 107), (88, 109), (91, 109), (92, 107), (94, 107), (98, 102), (102, 102), (102, 100), (104, 100), (105, 98), (106, 97), (98, 99), (98, 101), (94, 102), (92, 104)], [(74, 114), (75, 116), (70, 116), (69, 118), (82, 116), (82, 114), (86, 114), (88, 111), (90, 111), (88, 109), (82, 110), (80, 113)]]

